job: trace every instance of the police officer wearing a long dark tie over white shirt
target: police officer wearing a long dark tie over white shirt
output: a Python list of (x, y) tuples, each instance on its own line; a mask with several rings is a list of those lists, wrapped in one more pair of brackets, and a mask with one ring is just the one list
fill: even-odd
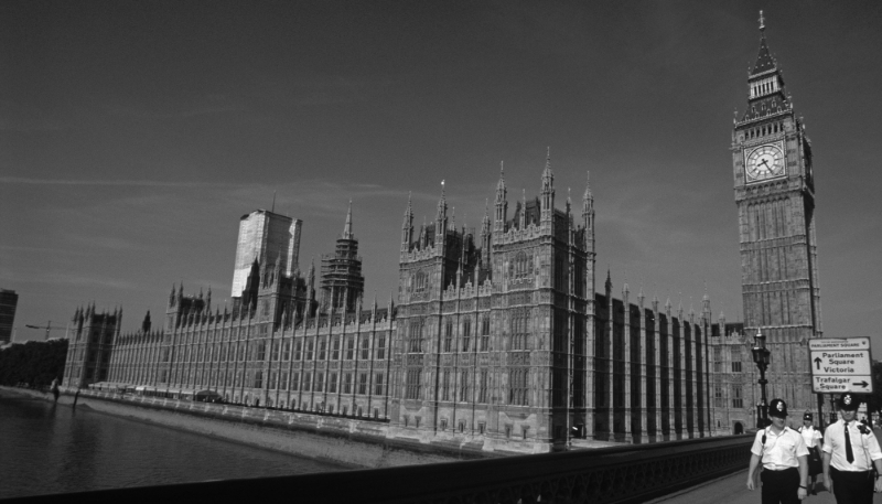
[(856, 421), (861, 401), (847, 393), (839, 397), (840, 419), (824, 432), (824, 485), (839, 504), (872, 504), (882, 492), (882, 451), (873, 431)]

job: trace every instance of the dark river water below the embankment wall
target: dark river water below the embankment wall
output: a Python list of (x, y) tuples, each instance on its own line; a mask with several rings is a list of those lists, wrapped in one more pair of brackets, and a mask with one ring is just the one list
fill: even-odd
[(0, 393), (0, 498), (342, 470), (83, 405)]

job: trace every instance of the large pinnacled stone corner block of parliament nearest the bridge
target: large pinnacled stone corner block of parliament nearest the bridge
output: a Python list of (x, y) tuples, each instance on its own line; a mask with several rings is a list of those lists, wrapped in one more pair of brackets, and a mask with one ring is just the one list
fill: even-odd
[[(442, 192), (434, 222), (405, 211), (399, 259), (396, 436), (517, 439), (524, 450), (593, 436), (593, 199), (555, 205), (550, 156), (538, 197), (509, 216), (499, 176), (476, 229), (456, 228)], [(611, 415), (610, 409), (604, 409)]]

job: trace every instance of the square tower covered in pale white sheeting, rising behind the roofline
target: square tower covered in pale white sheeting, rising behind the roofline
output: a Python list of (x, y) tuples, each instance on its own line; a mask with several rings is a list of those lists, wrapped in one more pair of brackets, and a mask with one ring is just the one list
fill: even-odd
[(233, 298), (241, 296), (251, 265), (276, 266), (279, 261), (282, 274), (291, 276), (298, 268), (300, 254), (300, 229), (303, 222), (266, 210), (243, 215), (239, 221), (239, 240), (236, 246), (236, 267), (233, 272)]

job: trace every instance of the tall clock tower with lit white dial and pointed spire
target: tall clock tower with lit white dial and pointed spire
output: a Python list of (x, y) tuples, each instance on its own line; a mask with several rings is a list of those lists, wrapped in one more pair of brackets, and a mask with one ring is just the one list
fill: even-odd
[(732, 131), (744, 330), (767, 336), (768, 399), (798, 411), (813, 406), (806, 341), (821, 335), (811, 142), (768, 51), (762, 11), (760, 33), (747, 109)]

